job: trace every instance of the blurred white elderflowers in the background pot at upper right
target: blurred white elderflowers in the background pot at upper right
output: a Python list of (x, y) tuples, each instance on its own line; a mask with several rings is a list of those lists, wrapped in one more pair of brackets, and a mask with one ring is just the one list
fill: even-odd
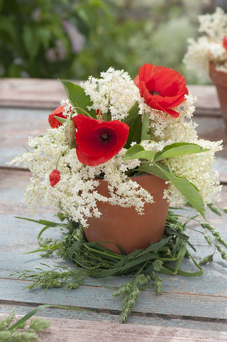
[(188, 39), (183, 62), (189, 70), (197, 70), (199, 75), (208, 73), (210, 61), (217, 70), (227, 72), (227, 51), (223, 47), (223, 38), (227, 35), (227, 14), (217, 7), (213, 14), (199, 15), (198, 19), (198, 31), (205, 35), (197, 41)]

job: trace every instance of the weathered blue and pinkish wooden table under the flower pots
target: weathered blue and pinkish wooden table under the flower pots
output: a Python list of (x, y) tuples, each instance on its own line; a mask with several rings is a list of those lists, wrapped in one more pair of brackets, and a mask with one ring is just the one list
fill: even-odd
[[(195, 120), (199, 123), (200, 137), (224, 140), (227, 133), (213, 86), (189, 86), (199, 97)], [(227, 341), (226, 331), (226, 263), (218, 254), (214, 262), (204, 266), (200, 277), (162, 276), (163, 292), (157, 296), (152, 289), (142, 291), (125, 325), (116, 324), (121, 310), (121, 299), (112, 298), (112, 290), (103, 286), (102, 279), (78, 289), (23, 290), (28, 280), (8, 277), (13, 271), (32, 269), (45, 262), (71, 265), (70, 262), (51, 257), (43, 260), (39, 254), (24, 254), (37, 248), (36, 236), (40, 226), (20, 221), (14, 216), (31, 217), (24, 203), (20, 202), (30, 172), (18, 167), (7, 167), (6, 162), (24, 152), (28, 135), (40, 135), (48, 128), (48, 114), (65, 98), (58, 81), (36, 79), (0, 80), (0, 313), (13, 308), (17, 315), (24, 315), (39, 304), (59, 304), (89, 308), (91, 312), (77, 312), (48, 308), (39, 316), (48, 317), (52, 327), (43, 334), (43, 341)], [(223, 183), (222, 202), (227, 207), (227, 158), (226, 149), (218, 153), (216, 166)], [(40, 208), (35, 219), (51, 220), (53, 211)], [(227, 238), (227, 216), (208, 214), (208, 219)], [(198, 228), (196, 225), (195, 228)], [(53, 233), (57, 236), (54, 231)], [(198, 252), (196, 259), (210, 254), (199, 233), (191, 238)], [(184, 260), (184, 269), (194, 269)], [(105, 280), (105, 285), (119, 286), (123, 277)], [(0, 317), (1, 317), (0, 316)]]

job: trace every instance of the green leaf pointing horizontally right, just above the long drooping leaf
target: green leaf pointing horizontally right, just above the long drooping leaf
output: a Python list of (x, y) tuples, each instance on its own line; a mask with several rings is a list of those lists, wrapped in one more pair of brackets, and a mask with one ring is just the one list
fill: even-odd
[(154, 156), (154, 161), (165, 158), (174, 158), (186, 154), (206, 152), (208, 150), (209, 149), (203, 148), (197, 144), (173, 143), (171, 145), (165, 146), (161, 151), (157, 152)]

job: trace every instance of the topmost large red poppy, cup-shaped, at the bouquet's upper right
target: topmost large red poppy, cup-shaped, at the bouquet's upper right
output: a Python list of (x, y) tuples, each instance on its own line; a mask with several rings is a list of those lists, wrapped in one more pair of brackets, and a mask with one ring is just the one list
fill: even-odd
[(188, 89), (185, 78), (178, 71), (165, 66), (144, 64), (134, 83), (148, 106), (165, 111), (174, 118), (179, 117), (179, 113), (171, 108), (184, 101)]

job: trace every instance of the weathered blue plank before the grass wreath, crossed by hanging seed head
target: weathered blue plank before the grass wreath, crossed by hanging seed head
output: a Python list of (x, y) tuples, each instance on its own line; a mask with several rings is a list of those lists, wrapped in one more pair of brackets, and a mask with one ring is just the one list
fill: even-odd
[[(81, 285), (71, 291), (64, 291), (63, 288), (51, 288), (45, 292), (41, 289), (23, 290), (30, 283), (25, 280), (1, 279), (0, 300), (12, 304), (24, 302), (70, 305), (105, 312), (120, 311), (122, 308), (121, 299), (111, 297), (113, 290), (109, 288)], [(132, 312), (170, 318), (198, 317), (214, 321), (227, 318), (224, 297), (165, 292), (158, 296), (152, 291), (142, 292)]]

